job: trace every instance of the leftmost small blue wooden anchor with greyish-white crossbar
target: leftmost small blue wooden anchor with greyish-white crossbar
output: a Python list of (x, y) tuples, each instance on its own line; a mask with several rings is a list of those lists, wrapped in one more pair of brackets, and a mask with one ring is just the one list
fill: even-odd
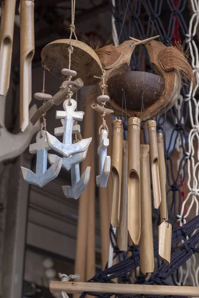
[(55, 179), (60, 172), (62, 160), (55, 162), (47, 169), (47, 155), (48, 150), (51, 149), (46, 139), (46, 132), (42, 131), (37, 133), (36, 143), (31, 144), (29, 147), (30, 153), (37, 153), (36, 173), (21, 166), (23, 178), (29, 184), (34, 184), (43, 187), (51, 180)]

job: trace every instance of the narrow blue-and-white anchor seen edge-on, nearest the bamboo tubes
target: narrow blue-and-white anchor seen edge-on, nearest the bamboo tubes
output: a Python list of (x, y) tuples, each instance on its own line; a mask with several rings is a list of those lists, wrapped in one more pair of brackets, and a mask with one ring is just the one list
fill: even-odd
[(96, 176), (96, 183), (99, 187), (105, 188), (110, 173), (110, 156), (107, 156), (107, 147), (109, 140), (107, 139), (107, 131), (100, 131), (100, 145), (98, 147), (98, 155), (100, 155), (100, 175)]

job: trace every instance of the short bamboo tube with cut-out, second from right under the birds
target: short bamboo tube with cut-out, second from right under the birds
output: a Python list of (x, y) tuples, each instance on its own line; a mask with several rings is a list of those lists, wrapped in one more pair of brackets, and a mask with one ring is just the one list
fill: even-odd
[(151, 173), (153, 184), (153, 204), (154, 208), (158, 209), (161, 203), (160, 177), (158, 166), (158, 145), (156, 135), (156, 121), (148, 121)]

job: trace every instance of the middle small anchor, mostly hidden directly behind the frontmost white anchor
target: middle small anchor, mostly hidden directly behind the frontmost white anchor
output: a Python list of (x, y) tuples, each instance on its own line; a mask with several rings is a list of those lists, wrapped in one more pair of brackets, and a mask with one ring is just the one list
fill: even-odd
[[(56, 137), (64, 135), (64, 122), (65, 120), (61, 119), (62, 127), (55, 128)], [(80, 131), (81, 130), (80, 130), (79, 124), (73, 125), (72, 134), (80, 133)], [(87, 148), (84, 152), (79, 152), (79, 153), (70, 155), (69, 157), (60, 157), (60, 156), (57, 156), (56, 154), (48, 153), (48, 160), (50, 164), (53, 164), (62, 158), (62, 167), (67, 171), (69, 171), (73, 164), (80, 163), (86, 158), (88, 149), (89, 148)]]

